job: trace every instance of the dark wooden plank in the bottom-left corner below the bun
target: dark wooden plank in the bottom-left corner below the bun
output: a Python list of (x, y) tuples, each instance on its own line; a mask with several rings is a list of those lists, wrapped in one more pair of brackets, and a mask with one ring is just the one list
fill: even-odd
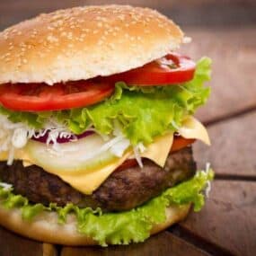
[[(23, 254), (25, 253), (25, 254)], [(0, 226), (0, 255), (2, 256), (42, 256), (42, 243), (37, 243), (13, 234)], [(45, 255), (54, 256), (54, 255)]]

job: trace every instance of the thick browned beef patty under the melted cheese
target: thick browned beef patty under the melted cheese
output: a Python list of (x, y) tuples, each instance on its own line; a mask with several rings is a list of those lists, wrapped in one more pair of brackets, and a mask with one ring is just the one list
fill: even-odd
[(0, 180), (12, 184), (14, 193), (34, 203), (54, 202), (58, 206), (73, 203), (78, 207), (121, 211), (137, 207), (189, 179), (196, 170), (191, 147), (170, 154), (163, 168), (147, 159), (143, 162), (143, 168), (135, 166), (112, 172), (92, 195), (84, 195), (39, 166), (23, 167), (22, 161), (14, 161), (11, 166), (0, 162)]

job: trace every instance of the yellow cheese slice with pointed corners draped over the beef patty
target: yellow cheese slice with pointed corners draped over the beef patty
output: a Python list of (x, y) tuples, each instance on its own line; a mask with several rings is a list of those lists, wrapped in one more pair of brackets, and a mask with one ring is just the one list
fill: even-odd
[[(182, 127), (179, 129), (179, 133), (182, 137), (197, 138), (209, 145), (209, 137), (207, 135), (206, 128), (199, 122), (199, 120), (192, 117), (188, 117), (184, 120)], [(163, 166), (166, 158), (170, 152), (173, 142), (172, 133), (166, 134), (162, 137), (157, 137), (154, 143), (146, 147), (146, 151), (141, 154), (142, 157), (146, 157), (154, 161), (160, 166)], [(79, 172), (65, 172), (64, 170), (45, 170), (52, 174), (57, 175), (63, 181), (69, 183), (76, 190), (81, 191), (84, 194), (91, 194), (94, 190), (99, 188), (103, 181), (105, 181), (112, 172), (119, 167), (119, 165), (125, 162), (133, 154), (132, 150), (127, 150), (126, 153), (116, 158), (115, 161), (107, 163), (107, 165), (91, 169), (82, 170)], [(5, 161), (8, 157), (6, 152), (0, 154), (0, 160)], [(23, 161), (24, 166), (35, 164), (30, 154), (26, 152), (25, 148), (17, 150), (14, 155), (15, 159)]]

